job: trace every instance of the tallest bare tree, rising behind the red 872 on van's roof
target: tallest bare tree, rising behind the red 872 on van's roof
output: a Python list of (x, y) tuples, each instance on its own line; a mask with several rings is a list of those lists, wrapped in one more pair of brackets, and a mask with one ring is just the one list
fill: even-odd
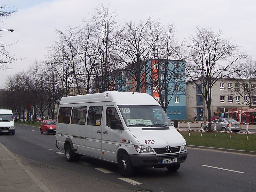
[[(111, 71), (118, 69), (118, 56), (116, 52), (116, 12), (109, 12), (108, 7), (97, 7), (95, 13), (91, 15), (92, 42), (90, 53), (94, 51), (92, 58), (94, 84), (97, 90), (94, 92), (105, 92), (110, 90), (108, 75)], [(96, 57), (95, 57), (96, 56)], [(93, 60), (92, 60), (93, 61)]]

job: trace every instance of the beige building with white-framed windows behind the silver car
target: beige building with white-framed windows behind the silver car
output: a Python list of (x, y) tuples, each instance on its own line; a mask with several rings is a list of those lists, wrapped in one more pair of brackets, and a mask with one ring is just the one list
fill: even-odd
[[(254, 82), (253, 82), (254, 81)], [(256, 80), (222, 78), (219, 79), (212, 87), (211, 116), (224, 115), (225, 118), (235, 117), (239, 110), (248, 111), (249, 95), (252, 97), (252, 105), (256, 105)], [(207, 106), (204, 97), (199, 89), (202, 84), (198, 80), (198, 87), (193, 81), (186, 82), (187, 93), (187, 120), (193, 120), (195, 114), (197, 120), (207, 119)], [(249, 92), (250, 91), (250, 92)], [(248, 93), (249, 92), (249, 93)]]

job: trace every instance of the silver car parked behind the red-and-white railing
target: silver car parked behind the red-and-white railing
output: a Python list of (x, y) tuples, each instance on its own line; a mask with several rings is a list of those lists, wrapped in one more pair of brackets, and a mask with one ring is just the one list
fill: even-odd
[[(217, 131), (229, 131), (229, 126), (231, 126), (231, 131), (239, 132), (241, 130), (241, 125), (234, 119), (215, 119), (212, 121), (216, 124)], [(211, 124), (211, 130), (214, 129), (214, 124)], [(208, 129), (208, 123), (204, 125), (204, 131), (210, 130)]]

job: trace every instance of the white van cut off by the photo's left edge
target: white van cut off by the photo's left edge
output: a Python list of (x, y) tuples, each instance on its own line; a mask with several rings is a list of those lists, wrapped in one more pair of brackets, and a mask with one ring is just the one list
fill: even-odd
[(15, 133), (12, 110), (0, 109), (0, 133)]

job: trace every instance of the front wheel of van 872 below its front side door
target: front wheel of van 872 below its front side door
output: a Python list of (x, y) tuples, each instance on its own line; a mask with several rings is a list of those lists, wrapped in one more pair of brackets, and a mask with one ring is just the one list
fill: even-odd
[(127, 154), (121, 154), (118, 158), (118, 169), (121, 175), (129, 177), (134, 171), (132, 162)]

